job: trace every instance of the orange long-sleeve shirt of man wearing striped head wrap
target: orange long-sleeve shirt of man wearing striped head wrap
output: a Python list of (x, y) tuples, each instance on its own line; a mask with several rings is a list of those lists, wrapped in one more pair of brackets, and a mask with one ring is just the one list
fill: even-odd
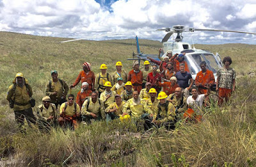
[(79, 72), (78, 77), (76, 78), (76, 81), (73, 83), (73, 86), (76, 86), (79, 82), (81, 83), (86, 82), (89, 84), (88, 90), (94, 90), (94, 83), (95, 83), (95, 75), (94, 72), (89, 71), (88, 74), (82, 70)]

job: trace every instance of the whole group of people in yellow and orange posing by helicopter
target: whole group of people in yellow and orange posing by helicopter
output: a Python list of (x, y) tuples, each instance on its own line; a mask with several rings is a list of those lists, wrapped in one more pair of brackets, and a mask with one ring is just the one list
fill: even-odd
[[(36, 109), (36, 116), (31, 108), (35, 106), (32, 88), (22, 73), (16, 74), (6, 99), (20, 125), (24, 124), (24, 118), (29, 123), (38, 120), (44, 126), (58, 124), (73, 128), (79, 125), (77, 122), (89, 124), (92, 120), (110, 122), (116, 118), (139, 118), (145, 120), (145, 129), (152, 125), (173, 129), (175, 122), (183, 118), (200, 121), (200, 109), (209, 105), (211, 87), (215, 84), (213, 73), (202, 61), (202, 71), (198, 72), (194, 82), (184, 54), (172, 55), (172, 51), (168, 51), (166, 55), (163, 61), (148, 58), (156, 63), (152, 67), (149, 61), (145, 61), (142, 68), (138, 61), (134, 61), (128, 74), (120, 61), (116, 62), (116, 71), (112, 74), (108, 73), (107, 65), (102, 64), (96, 75), (90, 63), (84, 62), (83, 70), (70, 86), (58, 77), (56, 70), (52, 70), (52, 79), (45, 85), (45, 97)], [(229, 67), (231, 63), (231, 58), (225, 57), (224, 67), (217, 72), (216, 91), (220, 106), (235, 90), (236, 72)], [(81, 90), (75, 102), (75, 96), (68, 95), (68, 90), (80, 82)], [(189, 96), (190, 92), (192, 95)], [(60, 111), (57, 111), (59, 105)]]

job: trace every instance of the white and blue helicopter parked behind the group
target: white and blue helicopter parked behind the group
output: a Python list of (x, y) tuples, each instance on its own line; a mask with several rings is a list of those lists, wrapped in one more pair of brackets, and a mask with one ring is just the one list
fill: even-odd
[[(162, 40), (162, 43), (163, 43), (163, 49), (161, 52), (162, 58), (166, 56), (167, 51), (172, 51), (173, 54), (184, 53), (185, 54), (184, 60), (188, 63), (189, 71), (194, 80), (196, 78), (196, 74), (201, 70), (200, 63), (202, 61), (205, 61), (207, 64), (206, 65), (207, 69), (213, 72), (215, 81), (217, 79), (216, 74), (218, 69), (223, 67), (223, 62), (221, 61), (220, 54), (218, 54), (218, 52), (216, 52), (216, 54), (213, 54), (209, 51), (196, 49), (195, 46), (191, 47), (189, 43), (182, 42), (182, 39), (183, 39), (182, 33), (194, 32), (194, 31), (223, 31), (223, 32), (246, 33), (246, 34), (256, 35), (256, 33), (249, 33), (244, 31), (231, 31), (231, 30), (221, 30), (221, 29), (195, 29), (195, 28), (185, 28), (185, 26), (173, 26), (173, 28), (157, 29), (157, 31), (167, 32)], [(170, 36), (172, 36), (173, 33), (177, 33), (175, 42), (168, 42)], [(139, 63), (141, 60), (144, 60), (144, 61), (148, 60), (147, 57), (154, 58), (155, 60), (159, 60), (158, 55), (156, 54), (143, 54), (143, 52), (140, 52), (140, 46), (138, 43), (137, 36), (136, 36), (136, 47), (137, 47), (137, 53), (136, 54), (133, 53), (132, 54), (133, 58), (130, 58), (127, 60), (138, 60)], [(154, 64), (152, 61), (151, 63)]]

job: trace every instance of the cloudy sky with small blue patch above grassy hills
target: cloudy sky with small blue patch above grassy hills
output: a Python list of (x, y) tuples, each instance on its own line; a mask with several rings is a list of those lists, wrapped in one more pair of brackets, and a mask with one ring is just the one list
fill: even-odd
[[(137, 35), (159, 41), (166, 32), (156, 29), (175, 25), (256, 33), (255, 9), (256, 0), (0, 0), (0, 31), (88, 40)], [(240, 33), (182, 36), (195, 44), (256, 44), (256, 35)]]

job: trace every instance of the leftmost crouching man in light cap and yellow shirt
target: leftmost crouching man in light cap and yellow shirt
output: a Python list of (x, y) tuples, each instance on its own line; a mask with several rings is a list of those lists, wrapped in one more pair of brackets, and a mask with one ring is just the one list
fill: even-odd
[(51, 98), (45, 96), (42, 99), (42, 104), (37, 107), (36, 115), (38, 116), (38, 123), (40, 127), (46, 127), (56, 125), (57, 109), (55, 104), (51, 103)]

